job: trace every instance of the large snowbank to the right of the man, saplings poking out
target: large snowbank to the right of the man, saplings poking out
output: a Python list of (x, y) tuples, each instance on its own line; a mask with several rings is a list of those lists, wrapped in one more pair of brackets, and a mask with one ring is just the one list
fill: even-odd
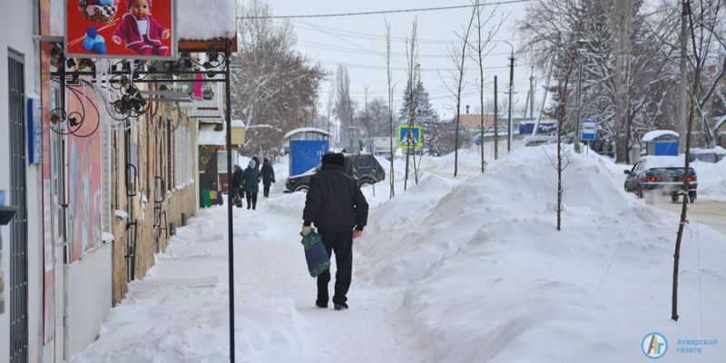
[(687, 232), (675, 324), (677, 217), (625, 193), (610, 161), (574, 154), (556, 231), (556, 173), (543, 149), (556, 152), (513, 152), (453, 189), (430, 178), (371, 212), (358, 279), (408, 287), (402, 310), (431, 360), (637, 361), (652, 331), (672, 345), (726, 337), (723, 235)]

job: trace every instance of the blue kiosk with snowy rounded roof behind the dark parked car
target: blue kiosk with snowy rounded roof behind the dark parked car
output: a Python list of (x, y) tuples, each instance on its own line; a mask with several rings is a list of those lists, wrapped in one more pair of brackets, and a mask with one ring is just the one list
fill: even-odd
[(300, 175), (317, 167), (323, 155), (329, 151), (330, 132), (305, 127), (288, 132), (289, 175)]

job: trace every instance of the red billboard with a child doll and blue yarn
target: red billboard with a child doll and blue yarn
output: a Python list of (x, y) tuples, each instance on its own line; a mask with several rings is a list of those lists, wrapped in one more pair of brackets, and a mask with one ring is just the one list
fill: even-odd
[(172, 59), (176, 0), (66, 0), (69, 57)]

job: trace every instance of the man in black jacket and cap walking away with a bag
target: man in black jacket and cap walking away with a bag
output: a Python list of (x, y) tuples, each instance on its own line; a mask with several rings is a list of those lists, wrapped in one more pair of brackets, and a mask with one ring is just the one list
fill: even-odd
[[(310, 178), (308, 199), (302, 213), (302, 235), (307, 236), (315, 223), (330, 256), (335, 252), (336, 310), (348, 309), (348, 289), (353, 271), (353, 239), (363, 234), (368, 223), (368, 202), (358, 183), (343, 172), (342, 153), (323, 155), (322, 168)], [(315, 305), (328, 308), (330, 270), (318, 276), (318, 299)]]

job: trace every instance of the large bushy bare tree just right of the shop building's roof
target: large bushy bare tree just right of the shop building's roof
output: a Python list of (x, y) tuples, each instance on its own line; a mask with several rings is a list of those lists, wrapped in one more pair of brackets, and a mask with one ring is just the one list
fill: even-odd
[(232, 117), (248, 126), (264, 120), (270, 127), (251, 128), (245, 148), (266, 150), (280, 144), (283, 130), (309, 123), (325, 72), (293, 49), (292, 26), (273, 23), (264, 1), (252, 0), (240, 13), (246, 17), (232, 60)]

